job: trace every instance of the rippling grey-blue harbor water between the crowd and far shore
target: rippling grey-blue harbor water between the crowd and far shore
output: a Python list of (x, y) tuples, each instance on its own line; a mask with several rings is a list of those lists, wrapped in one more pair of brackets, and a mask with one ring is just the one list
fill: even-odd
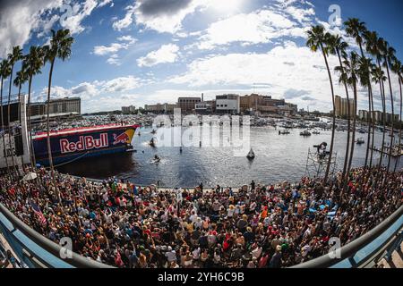
[[(198, 128), (200, 127), (188, 127), (182, 131), (189, 132), (189, 129)], [(219, 129), (217, 131), (222, 138), (222, 130), (215, 128)], [(170, 188), (194, 187), (201, 182), (206, 187), (217, 184), (222, 187), (239, 187), (252, 180), (265, 184), (298, 181), (306, 175), (308, 149), (315, 152), (313, 146), (322, 142), (327, 142), (329, 149), (331, 137), (330, 130), (321, 130), (320, 134), (303, 137), (300, 136), (300, 129), (289, 130), (287, 135), (279, 135), (279, 129), (274, 127), (251, 127), (250, 143), (256, 156), (251, 161), (246, 158), (247, 152), (244, 156), (234, 156), (231, 147), (183, 147), (182, 152), (180, 147), (150, 147), (150, 139), (154, 137), (151, 130), (136, 130), (133, 138), (135, 151), (132, 153), (84, 158), (60, 165), (57, 170), (101, 180), (116, 176), (136, 184), (159, 184)], [(367, 134), (357, 132), (356, 139), (360, 137), (365, 143), (355, 144), (353, 166), (364, 164)], [(336, 131), (334, 152), (337, 153), (337, 170), (343, 168), (346, 139), (346, 131)], [(389, 141), (390, 137), (386, 136), (386, 140)], [(374, 146), (381, 145), (382, 132), (376, 131)], [(156, 155), (161, 158), (159, 163), (153, 161)], [(378, 160), (379, 153), (373, 152), (373, 162), (379, 162)], [(383, 164), (387, 164), (387, 160), (385, 156)], [(403, 167), (402, 161), (399, 162), (399, 168)], [(392, 158), (391, 166), (394, 165), (395, 159)]]

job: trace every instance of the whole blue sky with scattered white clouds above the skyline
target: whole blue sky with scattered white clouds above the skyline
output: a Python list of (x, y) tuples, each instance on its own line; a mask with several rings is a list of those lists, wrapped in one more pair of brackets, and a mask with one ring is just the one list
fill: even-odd
[[(304, 42), (305, 30), (317, 23), (345, 36), (328, 22), (331, 4), (339, 5), (342, 21), (365, 21), (403, 59), (403, 3), (392, 0), (4, 0), (0, 57), (14, 45), (25, 53), (44, 45), (49, 29), (63, 26), (73, 32), (73, 55), (56, 62), (52, 97), (81, 97), (84, 112), (253, 91), (329, 111), (322, 55)], [(330, 57), (330, 65), (337, 59)], [(34, 79), (37, 100), (45, 97), (47, 71)], [(344, 96), (338, 85), (336, 92)]]

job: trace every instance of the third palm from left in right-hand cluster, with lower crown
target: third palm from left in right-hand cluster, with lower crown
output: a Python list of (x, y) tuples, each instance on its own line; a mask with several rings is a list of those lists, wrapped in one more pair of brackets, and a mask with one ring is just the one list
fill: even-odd
[(356, 142), (356, 106), (357, 106), (357, 83), (358, 83), (358, 74), (359, 74), (359, 55), (355, 52), (351, 52), (348, 58), (344, 59), (344, 71), (347, 84), (353, 88), (354, 92), (354, 110), (353, 110), (353, 134), (351, 136), (351, 149), (350, 156), (348, 158), (347, 165), (347, 175), (351, 170), (351, 164), (353, 162), (354, 156), (354, 147)]

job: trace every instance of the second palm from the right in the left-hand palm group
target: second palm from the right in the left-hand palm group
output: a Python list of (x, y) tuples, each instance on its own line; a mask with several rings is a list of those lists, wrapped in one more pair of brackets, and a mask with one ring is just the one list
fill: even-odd
[(23, 65), (25, 65), (26, 72), (28, 74), (28, 105), (27, 105), (27, 117), (28, 117), (28, 134), (30, 140), (30, 164), (32, 168), (36, 166), (35, 159), (35, 150), (33, 147), (32, 139), (31, 139), (31, 125), (30, 125), (30, 93), (32, 86), (32, 79), (35, 75), (40, 74), (40, 69), (44, 64), (44, 51), (40, 46), (31, 46), (30, 53), (26, 55), (23, 59)]

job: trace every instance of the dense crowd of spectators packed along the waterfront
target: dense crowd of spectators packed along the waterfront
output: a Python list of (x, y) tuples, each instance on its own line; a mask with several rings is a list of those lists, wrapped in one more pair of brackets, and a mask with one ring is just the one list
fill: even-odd
[[(27, 170), (26, 172), (32, 172)], [(56, 243), (116, 267), (279, 268), (328, 253), (381, 223), (402, 203), (403, 172), (357, 168), (347, 188), (328, 182), (239, 189), (157, 189), (90, 181), (45, 169), (36, 180), (0, 177), (0, 202)], [(344, 189), (344, 190), (343, 190)]]

